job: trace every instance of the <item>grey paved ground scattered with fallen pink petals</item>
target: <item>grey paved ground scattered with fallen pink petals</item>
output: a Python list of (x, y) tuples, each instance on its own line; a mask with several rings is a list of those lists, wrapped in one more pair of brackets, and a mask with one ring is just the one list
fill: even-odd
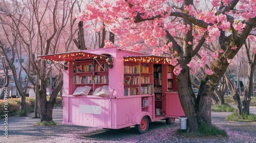
[[(256, 107), (250, 111), (256, 114)], [(57, 126), (33, 126), (39, 119), (8, 117), (8, 139), (5, 139), (4, 119), (0, 120), (0, 142), (256, 142), (256, 122), (229, 122), (225, 116), (230, 112), (212, 112), (212, 123), (225, 129), (228, 137), (184, 137), (176, 135), (179, 120), (173, 125), (164, 121), (150, 124), (148, 132), (137, 134), (134, 128), (127, 130), (104, 130), (82, 126), (62, 124), (62, 108), (55, 108), (53, 113)]]

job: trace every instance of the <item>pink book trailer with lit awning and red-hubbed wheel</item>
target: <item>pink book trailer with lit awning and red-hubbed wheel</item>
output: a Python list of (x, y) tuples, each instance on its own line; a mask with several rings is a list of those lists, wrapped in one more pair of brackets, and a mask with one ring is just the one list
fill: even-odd
[[(39, 57), (68, 62), (68, 69), (63, 70), (63, 124), (109, 129), (138, 125), (144, 133), (147, 128), (141, 127), (147, 122), (184, 115), (178, 93), (166, 92), (177, 91), (177, 87), (173, 67), (163, 57), (117, 47)], [(113, 67), (106, 67), (109, 57)], [(72, 95), (84, 85), (92, 92)], [(102, 86), (108, 86), (108, 96), (94, 96)]]

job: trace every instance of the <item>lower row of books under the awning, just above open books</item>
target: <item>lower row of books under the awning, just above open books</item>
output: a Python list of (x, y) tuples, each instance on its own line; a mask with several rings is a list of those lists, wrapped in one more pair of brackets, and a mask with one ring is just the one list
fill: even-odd
[(73, 84), (109, 83), (109, 76), (73, 76)]

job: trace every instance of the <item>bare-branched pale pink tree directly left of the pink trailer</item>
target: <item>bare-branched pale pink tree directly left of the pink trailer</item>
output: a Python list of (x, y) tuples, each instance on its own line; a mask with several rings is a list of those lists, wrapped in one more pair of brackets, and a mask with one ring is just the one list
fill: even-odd
[[(9, 2), (9, 9), (0, 10), (5, 14), (5, 16), (1, 15), (3, 23), (14, 23), (10, 28), (18, 35), (19, 45), (30, 61), (27, 67), (22, 66), (22, 68), (35, 87), (35, 111), (38, 100), (41, 121), (52, 121), (53, 106), (63, 85), (61, 70), (63, 64), (41, 60), (36, 56), (74, 50), (72, 39), (78, 31), (74, 12), (77, 12), (80, 5), (81, 1), (70, 0), (12, 1)], [(17, 47), (14, 49), (20, 51)], [(36, 75), (35, 81), (30, 77), (31, 74)], [(55, 76), (58, 77), (56, 85), (50, 94), (50, 99), (47, 100), (47, 84)]]

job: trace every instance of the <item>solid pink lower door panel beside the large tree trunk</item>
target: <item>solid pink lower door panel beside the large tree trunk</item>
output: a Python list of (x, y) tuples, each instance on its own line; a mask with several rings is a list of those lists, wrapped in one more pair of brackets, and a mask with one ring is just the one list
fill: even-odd
[(165, 92), (165, 116), (170, 118), (179, 118), (185, 116), (181, 107), (178, 92)]

